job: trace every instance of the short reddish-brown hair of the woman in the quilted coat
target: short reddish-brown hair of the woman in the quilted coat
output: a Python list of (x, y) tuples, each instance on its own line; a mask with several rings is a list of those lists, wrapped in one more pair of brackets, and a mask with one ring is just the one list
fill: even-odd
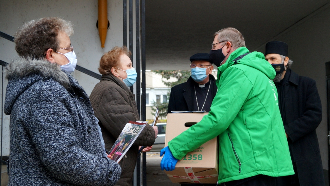
[(111, 51), (105, 53), (100, 60), (99, 72), (103, 75), (112, 74), (111, 68), (119, 65), (119, 58), (122, 54), (130, 57), (131, 52), (126, 46), (114, 47)]

